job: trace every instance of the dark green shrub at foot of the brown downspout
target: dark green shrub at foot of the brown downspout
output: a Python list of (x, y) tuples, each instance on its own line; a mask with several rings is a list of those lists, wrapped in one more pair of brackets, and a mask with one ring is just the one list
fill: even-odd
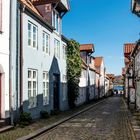
[(29, 125), (32, 121), (31, 113), (23, 112), (20, 114), (20, 126)]

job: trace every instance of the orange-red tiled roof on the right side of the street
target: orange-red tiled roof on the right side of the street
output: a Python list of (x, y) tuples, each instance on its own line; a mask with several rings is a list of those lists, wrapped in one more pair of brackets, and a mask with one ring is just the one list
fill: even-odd
[(135, 47), (135, 43), (124, 44), (124, 54), (130, 54)]

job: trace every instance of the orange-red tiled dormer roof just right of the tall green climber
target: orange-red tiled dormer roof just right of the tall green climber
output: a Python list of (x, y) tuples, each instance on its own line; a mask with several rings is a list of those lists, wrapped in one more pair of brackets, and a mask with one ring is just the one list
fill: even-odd
[(80, 51), (94, 52), (94, 44), (81, 44)]

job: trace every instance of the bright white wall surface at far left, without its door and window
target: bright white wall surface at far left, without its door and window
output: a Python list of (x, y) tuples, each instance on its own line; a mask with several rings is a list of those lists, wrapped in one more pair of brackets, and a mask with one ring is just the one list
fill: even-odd
[(2, 3), (2, 34), (0, 34), (0, 65), (3, 68), (2, 75), (2, 117), (9, 110), (9, 13), (10, 0)]

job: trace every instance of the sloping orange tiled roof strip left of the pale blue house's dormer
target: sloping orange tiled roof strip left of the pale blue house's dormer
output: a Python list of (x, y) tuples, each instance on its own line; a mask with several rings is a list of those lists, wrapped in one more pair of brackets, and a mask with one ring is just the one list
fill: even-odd
[[(39, 11), (35, 8), (35, 6), (32, 4), (32, 2), (30, 2), (30, 0), (19, 0), (21, 3), (23, 3), (24, 5), (26, 5), (29, 9), (31, 9), (34, 13), (36, 13), (37, 15), (41, 16), (41, 14), (39, 13)], [(42, 16), (41, 16), (42, 17)]]

